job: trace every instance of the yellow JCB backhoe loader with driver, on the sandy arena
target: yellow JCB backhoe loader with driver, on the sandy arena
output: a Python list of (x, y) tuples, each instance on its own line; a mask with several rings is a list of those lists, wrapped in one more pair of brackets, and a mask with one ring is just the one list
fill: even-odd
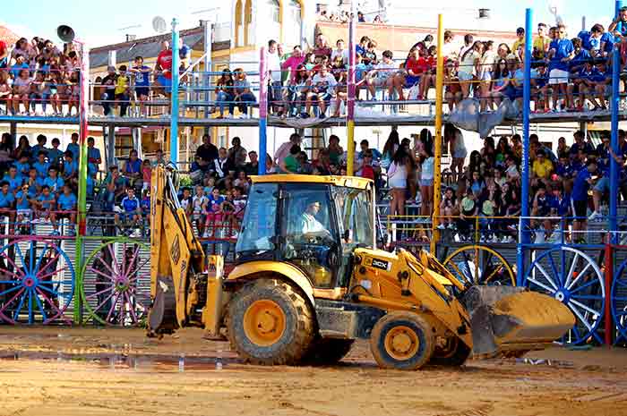
[(152, 174), (149, 335), (203, 327), (267, 365), (330, 364), (363, 338), (381, 367), (419, 369), (542, 349), (575, 323), (544, 294), (465, 285), (426, 251), (377, 250), (374, 185), (355, 177), (254, 177), (224, 276), (178, 204), (176, 175)]

